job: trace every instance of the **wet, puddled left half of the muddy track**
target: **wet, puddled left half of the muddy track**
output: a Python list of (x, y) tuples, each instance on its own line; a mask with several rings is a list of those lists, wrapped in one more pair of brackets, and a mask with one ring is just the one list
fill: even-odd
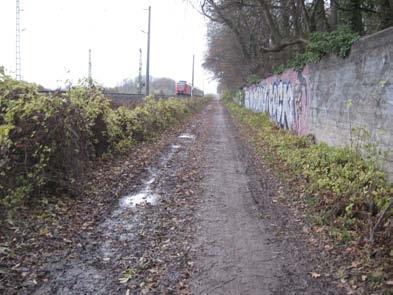
[(173, 138), (93, 232), (81, 232), (76, 250), (48, 258), (47, 282), (33, 294), (188, 293), (208, 113)]

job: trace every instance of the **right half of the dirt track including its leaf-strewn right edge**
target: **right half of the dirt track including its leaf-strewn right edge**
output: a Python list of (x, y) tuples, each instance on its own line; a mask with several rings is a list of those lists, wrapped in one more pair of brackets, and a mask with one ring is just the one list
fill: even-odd
[(192, 293), (342, 294), (300, 219), (274, 199), (280, 184), (256, 164), (226, 109), (215, 103), (212, 116)]

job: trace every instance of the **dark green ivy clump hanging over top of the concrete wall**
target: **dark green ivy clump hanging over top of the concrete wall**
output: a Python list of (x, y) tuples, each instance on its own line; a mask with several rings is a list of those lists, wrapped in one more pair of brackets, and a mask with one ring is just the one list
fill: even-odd
[(359, 39), (359, 35), (343, 26), (332, 32), (315, 32), (310, 34), (309, 43), (304, 53), (296, 55), (286, 65), (273, 69), (275, 74), (281, 74), (287, 68), (302, 69), (306, 64), (316, 63), (323, 56), (335, 54), (345, 58), (349, 55), (352, 44)]

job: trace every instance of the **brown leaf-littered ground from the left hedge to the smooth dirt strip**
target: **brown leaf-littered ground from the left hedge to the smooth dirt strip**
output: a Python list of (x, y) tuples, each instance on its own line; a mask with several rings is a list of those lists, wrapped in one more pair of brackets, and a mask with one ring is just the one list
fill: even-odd
[[(180, 130), (202, 138), (203, 114), (128, 156), (98, 163), (80, 197), (47, 198), (45, 206), (21, 210), (18, 223), (9, 221), (2, 229), (0, 292), (183, 292), (192, 265), (188, 253), (201, 144), (178, 138)], [(155, 166), (160, 171), (152, 180)], [(121, 196), (146, 185), (159, 196), (156, 203), (119, 210)]]

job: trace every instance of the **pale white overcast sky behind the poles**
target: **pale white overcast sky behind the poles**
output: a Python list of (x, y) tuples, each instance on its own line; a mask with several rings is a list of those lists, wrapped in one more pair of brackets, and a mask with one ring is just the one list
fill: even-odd
[[(138, 75), (139, 48), (146, 65), (147, 7), (152, 7), (150, 75), (191, 81), (216, 92), (202, 69), (206, 20), (184, 0), (21, 0), (22, 77), (47, 87), (75, 83), (88, 72), (114, 86)], [(0, 65), (15, 71), (15, 0), (0, 0)]]

